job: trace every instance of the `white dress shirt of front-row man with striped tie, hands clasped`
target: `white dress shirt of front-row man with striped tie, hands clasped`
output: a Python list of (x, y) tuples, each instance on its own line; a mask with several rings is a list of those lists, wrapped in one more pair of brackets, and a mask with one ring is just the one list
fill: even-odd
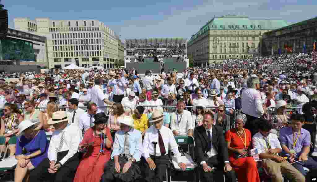
[[(64, 142), (60, 152), (68, 150), (68, 154), (59, 161), (62, 165), (77, 153), (78, 146), (82, 138), (82, 132), (76, 124), (68, 124), (63, 131), (65, 132)], [(48, 150), (49, 161), (55, 160), (55, 162), (57, 162), (56, 148), (60, 145), (61, 135), (61, 130), (55, 130), (52, 134)]]

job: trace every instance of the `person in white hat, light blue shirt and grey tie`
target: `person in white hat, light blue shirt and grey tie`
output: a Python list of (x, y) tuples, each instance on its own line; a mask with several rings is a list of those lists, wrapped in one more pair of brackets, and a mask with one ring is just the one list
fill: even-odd
[(101, 176), (101, 182), (122, 180), (135, 181), (141, 178), (140, 161), (143, 146), (142, 135), (134, 129), (133, 118), (124, 116), (118, 119), (120, 130), (114, 135), (111, 159)]

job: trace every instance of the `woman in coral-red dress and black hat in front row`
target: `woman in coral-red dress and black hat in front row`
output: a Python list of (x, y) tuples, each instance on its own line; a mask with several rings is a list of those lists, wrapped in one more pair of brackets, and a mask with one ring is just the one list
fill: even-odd
[(95, 125), (84, 135), (79, 149), (87, 148), (87, 152), (77, 168), (74, 182), (99, 182), (103, 169), (110, 159), (112, 137), (109, 128), (105, 125), (107, 118), (104, 112), (94, 116)]

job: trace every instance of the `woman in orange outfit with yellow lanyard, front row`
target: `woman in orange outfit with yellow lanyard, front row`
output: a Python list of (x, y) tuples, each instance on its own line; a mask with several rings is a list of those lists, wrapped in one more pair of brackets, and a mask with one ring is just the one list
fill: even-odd
[(245, 114), (237, 115), (235, 128), (226, 132), (229, 160), (239, 182), (260, 182), (256, 162), (248, 157), (252, 138), (251, 132), (243, 128), (246, 121)]

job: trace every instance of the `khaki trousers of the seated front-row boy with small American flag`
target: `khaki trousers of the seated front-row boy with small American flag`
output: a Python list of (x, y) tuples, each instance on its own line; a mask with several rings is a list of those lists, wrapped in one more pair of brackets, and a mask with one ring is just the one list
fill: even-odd
[(262, 166), (266, 174), (271, 176), (273, 182), (283, 182), (282, 175), (292, 182), (305, 182), (303, 174), (294, 166), (289, 165), (286, 160), (279, 163), (271, 159), (265, 159), (262, 161)]

